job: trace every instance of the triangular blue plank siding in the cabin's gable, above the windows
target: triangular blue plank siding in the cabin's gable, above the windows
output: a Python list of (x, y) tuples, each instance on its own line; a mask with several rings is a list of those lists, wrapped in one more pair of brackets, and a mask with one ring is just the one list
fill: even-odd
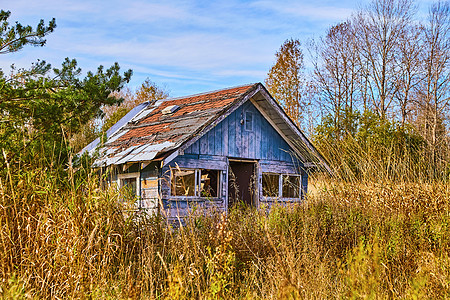
[[(245, 113), (253, 113), (253, 130), (245, 130)], [(293, 163), (292, 150), (251, 102), (246, 102), (188, 147), (185, 154), (217, 155)]]

